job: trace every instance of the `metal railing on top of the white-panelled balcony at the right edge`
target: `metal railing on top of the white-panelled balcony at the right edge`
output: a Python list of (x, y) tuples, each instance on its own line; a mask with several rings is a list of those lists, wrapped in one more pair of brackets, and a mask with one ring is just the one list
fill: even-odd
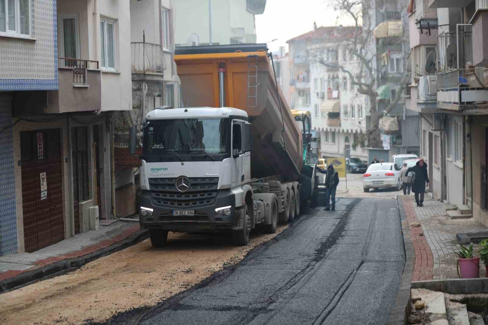
[(437, 75), (437, 89), (484, 88), (487, 83), (488, 71), (483, 67), (453, 69)]

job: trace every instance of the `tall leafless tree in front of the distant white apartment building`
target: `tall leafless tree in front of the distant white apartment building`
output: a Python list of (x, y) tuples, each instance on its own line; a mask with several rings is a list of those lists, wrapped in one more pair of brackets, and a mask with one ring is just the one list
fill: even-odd
[[(374, 25), (372, 24), (370, 13), (373, 9), (372, 4), (375, 0), (328, 0), (328, 2), (334, 6), (334, 8), (349, 18), (352, 18), (354, 25), (338, 29), (339, 38), (332, 41), (324, 40), (326, 43), (334, 42), (336, 48), (348, 49), (352, 54), (360, 61), (359, 69), (353, 70), (346, 64), (339, 64), (337, 62), (330, 62), (325, 60), (323, 56), (309, 53), (314, 57), (318, 63), (325, 65), (326, 67), (336, 67), (344, 72), (348, 78), (352, 81), (352, 84), (357, 88), (359, 94), (366, 95), (369, 101), (371, 126), (366, 131), (367, 133), (367, 145), (373, 148), (383, 148), (383, 141), (381, 139), (381, 132), (379, 122), (383, 114), (388, 114), (393, 107), (403, 97), (403, 90), (405, 83), (400, 83), (400, 87), (396, 91), (396, 96), (391, 99), (389, 104), (383, 111), (378, 111), (377, 103), (377, 70), (374, 61), (377, 60), (376, 40), (372, 37), (372, 31)], [(388, 1), (388, 0), (384, 0)], [(389, 0), (394, 1), (394, 0)], [(378, 2), (375, 1), (374, 8), (378, 7)], [(373, 9), (374, 10), (374, 9)], [(402, 35), (390, 38), (390, 41), (397, 42), (397, 44), (404, 43), (405, 26), (402, 25)], [(341, 32), (342, 31), (342, 32)]]

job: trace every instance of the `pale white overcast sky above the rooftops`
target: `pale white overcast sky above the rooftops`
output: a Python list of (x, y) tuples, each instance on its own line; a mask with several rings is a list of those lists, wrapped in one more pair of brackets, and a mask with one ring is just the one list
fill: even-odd
[[(286, 41), (320, 26), (352, 25), (353, 20), (341, 16), (332, 8), (333, 0), (267, 0), (264, 14), (256, 15), (258, 43), (268, 42), (272, 52), (278, 52)], [(278, 39), (272, 43), (274, 39)], [(286, 46), (286, 49), (288, 47)]]

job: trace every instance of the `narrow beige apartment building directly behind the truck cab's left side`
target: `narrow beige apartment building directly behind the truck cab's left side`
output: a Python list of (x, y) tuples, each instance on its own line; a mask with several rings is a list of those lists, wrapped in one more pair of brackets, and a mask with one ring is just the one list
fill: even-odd
[[(129, 127), (156, 107), (181, 107), (181, 83), (173, 61), (175, 10), (171, 0), (130, 0), (130, 59), (132, 107), (115, 115), (115, 213), (137, 212), (136, 196), (141, 161), (129, 155)], [(139, 134), (142, 139), (142, 132)], [(142, 144), (142, 141), (140, 141)], [(141, 145), (138, 146), (141, 154)]]

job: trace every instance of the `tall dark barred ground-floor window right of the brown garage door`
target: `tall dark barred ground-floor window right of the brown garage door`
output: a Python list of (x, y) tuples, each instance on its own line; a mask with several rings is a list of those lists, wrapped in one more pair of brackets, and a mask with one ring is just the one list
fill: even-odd
[(88, 200), (88, 127), (71, 129), (71, 151), (73, 157), (73, 197), (75, 201)]

